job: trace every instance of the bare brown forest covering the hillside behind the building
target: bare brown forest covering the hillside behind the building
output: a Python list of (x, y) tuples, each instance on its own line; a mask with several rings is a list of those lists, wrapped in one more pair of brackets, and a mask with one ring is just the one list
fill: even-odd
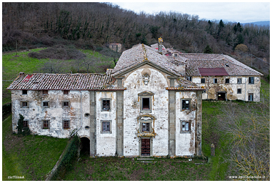
[[(129, 49), (138, 43), (154, 44), (162, 36), (166, 47), (184, 52), (203, 53), (209, 46), (213, 53), (234, 54), (238, 49), (243, 55), (270, 61), (269, 26), (242, 26), (171, 11), (136, 14), (110, 3), (2, 5), (3, 51), (53, 46), (56, 40), (68, 40), (86, 49), (118, 42)], [(240, 49), (238, 44), (242, 44)]]

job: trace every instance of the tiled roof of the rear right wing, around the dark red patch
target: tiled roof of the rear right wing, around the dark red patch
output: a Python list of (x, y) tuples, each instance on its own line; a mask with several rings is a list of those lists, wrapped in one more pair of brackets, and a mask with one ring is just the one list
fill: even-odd
[[(180, 54), (187, 58), (187, 76), (201, 76), (198, 68), (224, 68), (229, 76), (263, 76), (231, 56), (223, 54)], [(184, 60), (184, 59), (183, 59)]]

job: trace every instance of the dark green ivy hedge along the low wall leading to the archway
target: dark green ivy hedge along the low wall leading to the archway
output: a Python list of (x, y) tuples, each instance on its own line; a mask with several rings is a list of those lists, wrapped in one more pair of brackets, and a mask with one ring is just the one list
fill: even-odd
[(64, 152), (64, 157), (61, 159), (59, 167), (56, 169), (51, 180), (61, 180), (64, 178), (67, 171), (73, 169), (78, 155), (79, 145), (80, 139), (75, 135), (72, 137), (71, 142), (69, 142), (69, 146)]

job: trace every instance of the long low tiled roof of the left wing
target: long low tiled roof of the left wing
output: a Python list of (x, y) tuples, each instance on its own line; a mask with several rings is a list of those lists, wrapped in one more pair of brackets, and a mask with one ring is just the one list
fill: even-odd
[(117, 89), (109, 87), (115, 80), (111, 71), (108, 69), (106, 74), (24, 74), (18, 76), (7, 89)]

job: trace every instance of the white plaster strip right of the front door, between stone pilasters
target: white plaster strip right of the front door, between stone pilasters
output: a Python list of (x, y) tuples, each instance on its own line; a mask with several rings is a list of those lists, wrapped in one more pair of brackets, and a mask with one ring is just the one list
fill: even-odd
[[(190, 110), (181, 111), (181, 99), (191, 99)], [(195, 154), (196, 91), (176, 92), (176, 156)], [(181, 132), (181, 121), (191, 120), (191, 132)]]

